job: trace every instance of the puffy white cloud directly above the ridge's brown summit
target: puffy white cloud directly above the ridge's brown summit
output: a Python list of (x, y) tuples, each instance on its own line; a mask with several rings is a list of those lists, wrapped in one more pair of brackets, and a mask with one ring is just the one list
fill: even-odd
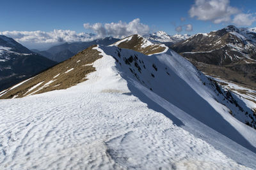
[(115, 38), (124, 38), (131, 34), (148, 34), (150, 29), (148, 25), (141, 24), (140, 18), (136, 18), (129, 23), (119, 21), (117, 23), (111, 22), (106, 24), (84, 24), (85, 29), (90, 29), (99, 36), (113, 36)]

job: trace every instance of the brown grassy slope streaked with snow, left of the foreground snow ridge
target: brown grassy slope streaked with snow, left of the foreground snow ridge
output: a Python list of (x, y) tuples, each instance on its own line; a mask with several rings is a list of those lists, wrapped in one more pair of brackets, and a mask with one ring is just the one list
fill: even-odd
[[(93, 47), (95, 47), (95, 45), (77, 53), (70, 59), (61, 62), (51, 69), (47, 69), (47, 71), (38, 74), (34, 78), (22, 83), (22, 85), (19, 85), (12, 90), (8, 90), (8, 92), (1, 96), (0, 99), (9, 99), (14, 96), (24, 97), (29, 94), (40, 94), (51, 90), (67, 89), (68, 87), (72, 87), (77, 83), (85, 81), (86, 74), (95, 71), (95, 67), (92, 65), (86, 66), (86, 64), (92, 64), (95, 60), (102, 57), (97, 50), (92, 49)], [(72, 71), (65, 73), (72, 68), (74, 68)], [(56, 77), (54, 78), (54, 76)], [(50, 83), (51, 81), (52, 83)], [(38, 85), (38, 83), (41, 84)], [(47, 85), (47, 83), (49, 84)], [(28, 90), (35, 85), (38, 85), (38, 87), (28, 92)]]

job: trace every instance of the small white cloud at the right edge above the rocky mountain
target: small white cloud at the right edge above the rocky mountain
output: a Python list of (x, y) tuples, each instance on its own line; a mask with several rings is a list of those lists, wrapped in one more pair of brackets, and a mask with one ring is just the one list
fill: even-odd
[(251, 13), (239, 13), (237, 14), (232, 23), (236, 24), (236, 25), (246, 25), (246, 26), (250, 26), (253, 24), (253, 22), (256, 21), (256, 17), (253, 16)]

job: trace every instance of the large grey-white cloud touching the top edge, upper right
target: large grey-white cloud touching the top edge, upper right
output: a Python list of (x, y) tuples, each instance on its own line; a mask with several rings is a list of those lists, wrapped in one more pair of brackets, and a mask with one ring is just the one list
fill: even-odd
[(230, 6), (229, 0), (195, 0), (189, 10), (190, 17), (211, 20), (215, 24), (230, 21), (230, 16), (236, 13), (239, 13), (239, 10)]

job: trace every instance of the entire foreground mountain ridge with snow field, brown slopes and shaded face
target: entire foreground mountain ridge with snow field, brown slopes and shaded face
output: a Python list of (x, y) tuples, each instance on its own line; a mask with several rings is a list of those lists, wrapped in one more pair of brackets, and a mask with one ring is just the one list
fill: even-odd
[(0, 96), (21, 97), (0, 101), (1, 169), (256, 166), (256, 131), (244, 124), (252, 110), (138, 35), (91, 46)]

